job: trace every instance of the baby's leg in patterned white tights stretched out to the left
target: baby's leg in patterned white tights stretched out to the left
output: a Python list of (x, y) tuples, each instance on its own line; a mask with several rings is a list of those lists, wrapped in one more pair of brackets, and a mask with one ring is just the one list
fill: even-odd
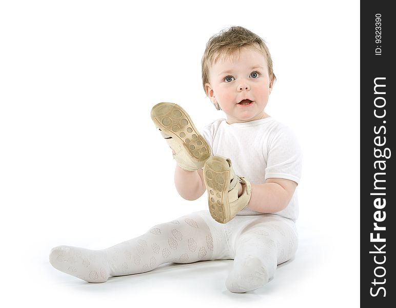
[(52, 249), (56, 269), (88, 282), (151, 271), (168, 263), (212, 260), (213, 238), (200, 215), (192, 213), (152, 227), (144, 235), (102, 250), (72, 246)]

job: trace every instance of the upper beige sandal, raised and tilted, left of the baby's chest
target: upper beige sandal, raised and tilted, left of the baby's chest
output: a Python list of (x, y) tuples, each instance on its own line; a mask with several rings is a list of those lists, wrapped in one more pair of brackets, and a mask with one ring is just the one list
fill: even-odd
[(159, 103), (151, 109), (151, 119), (173, 150), (179, 167), (192, 171), (204, 166), (211, 155), (210, 147), (182, 107)]

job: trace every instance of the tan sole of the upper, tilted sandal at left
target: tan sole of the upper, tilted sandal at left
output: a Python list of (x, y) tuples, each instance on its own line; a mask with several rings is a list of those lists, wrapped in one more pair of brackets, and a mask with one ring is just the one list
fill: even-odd
[(210, 147), (192, 123), (188, 113), (179, 105), (159, 103), (151, 109), (151, 119), (157, 128), (180, 141), (195, 163), (210, 157)]

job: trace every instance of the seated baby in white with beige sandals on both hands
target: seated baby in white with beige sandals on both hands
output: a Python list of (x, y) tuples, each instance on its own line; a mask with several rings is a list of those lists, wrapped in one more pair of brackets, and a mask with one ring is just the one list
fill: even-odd
[[(187, 112), (160, 103), (151, 118), (172, 148), (175, 186), (187, 200), (208, 195), (208, 210), (153, 226), (103, 250), (58, 246), (57, 269), (88, 282), (151, 271), (168, 263), (233, 259), (230, 292), (265, 285), (298, 245), (295, 188), (301, 150), (291, 130), (265, 107), (275, 75), (264, 41), (243, 27), (210, 38), (202, 58), (205, 93), (227, 119), (201, 133)], [(231, 164), (232, 162), (232, 164)]]

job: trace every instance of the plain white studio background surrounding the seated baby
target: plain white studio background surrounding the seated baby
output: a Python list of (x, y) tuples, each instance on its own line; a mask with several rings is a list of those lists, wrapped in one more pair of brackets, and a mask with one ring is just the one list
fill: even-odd
[[(7, 306), (359, 306), (359, 1), (2, 1), (0, 205)], [(304, 152), (300, 249), (254, 292), (232, 261), (164, 266), (89, 284), (56, 271), (53, 246), (106, 248), (206, 209), (183, 200), (150, 119), (182, 105), (224, 116), (201, 85), (208, 38), (260, 35), (278, 78), (267, 113)]]

